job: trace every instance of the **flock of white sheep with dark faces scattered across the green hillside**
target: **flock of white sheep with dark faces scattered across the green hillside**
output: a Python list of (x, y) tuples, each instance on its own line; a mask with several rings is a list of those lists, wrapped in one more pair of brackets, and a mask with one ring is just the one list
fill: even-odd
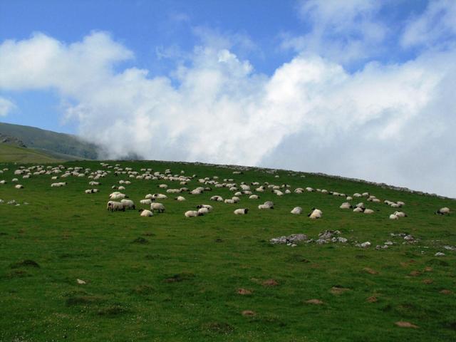
[[(99, 190), (95, 188), (96, 186), (100, 185), (100, 178), (106, 177), (107, 175), (113, 174), (117, 177), (128, 177), (130, 179), (135, 180), (160, 180), (160, 181), (167, 181), (175, 183), (175, 188), (169, 188), (167, 184), (160, 184), (158, 188), (167, 194), (183, 194), (187, 193), (189, 195), (200, 195), (203, 192), (217, 190), (219, 188), (226, 188), (230, 192), (233, 192), (233, 196), (230, 198), (224, 199), (222, 196), (213, 195), (210, 197), (210, 200), (216, 202), (224, 202), (225, 204), (237, 204), (241, 201), (241, 197), (247, 197), (251, 200), (257, 200), (260, 198), (260, 194), (263, 192), (272, 192), (277, 197), (281, 197), (284, 195), (291, 194), (291, 186), (287, 184), (281, 185), (274, 185), (269, 184), (269, 182), (264, 182), (260, 184), (259, 182), (251, 182), (250, 185), (247, 185), (245, 182), (237, 184), (234, 182), (233, 179), (224, 179), (219, 180), (219, 177), (214, 176), (212, 178), (205, 177), (197, 179), (197, 175), (187, 176), (185, 175), (184, 171), (181, 171), (179, 175), (172, 175), (172, 172), (167, 169), (164, 173), (161, 172), (153, 172), (150, 168), (142, 168), (140, 171), (135, 171), (131, 167), (121, 167), (120, 164), (116, 165), (109, 165), (105, 162), (100, 162), (100, 165), (103, 167), (104, 170), (97, 170), (92, 171), (89, 168), (83, 167), (68, 167), (66, 168), (63, 165), (58, 165), (57, 167), (44, 167), (42, 165), (35, 165), (31, 167), (19, 167), (18, 170), (14, 171), (14, 175), (19, 177), (21, 176), (23, 179), (27, 179), (36, 175), (51, 175), (51, 180), (60, 180), (62, 178), (67, 177), (87, 177), (90, 179), (88, 184), (90, 185), (90, 189), (85, 190), (86, 194), (93, 194), (97, 193)], [(8, 169), (0, 170), (0, 175), (7, 171)], [(240, 171), (234, 171), (234, 175), (239, 175)], [(278, 177), (278, 176), (276, 176)], [(190, 182), (197, 182), (199, 183), (199, 187), (195, 187), (195, 189), (190, 190), (187, 185)], [(13, 178), (11, 182), (17, 183), (19, 182), (18, 178)], [(0, 185), (5, 185), (7, 182), (6, 180), (1, 180)], [(53, 182), (51, 187), (64, 187), (68, 183), (67, 182)], [(128, 199), (128, 196), (125, 193), (120, 192), (125, 190), (125, 186), (130, 185), (130, 180), (119, 180), (118, 185), (113, 185), (112, 189), (116, 190), (109, 195), (109, 201), (106, 205), (106, 209), (114, 212), (114, 211), (125, 211), (126, 209), (136, 209), (135, 202), (132, 199)], [(204, 186), (203, 186), (204, 185)], [(24, 188), (24, 185), (16, 184), (15, 187), (17, 189)], [(120, 190), (120, 191), (119, 191)], [(254, 193), (255, 192), (255, 193)], [(347, 202), (343, 202), (340, 206), (341, 209), (353, 209), (353, 212), (364, 213), (364, 214), (373, 214), (375, 211), (373, 209), (366, 208), (364, 202), (359, 202), (358, 204), (351, 204), (350, 201), (356, 198), (366, 198), (367, 202), (381, 202), (380, 199), (375, 197), (374, 195), (369, 194), (368, 192), (363, 193), (355, 193), (353, 196), (347, 196), (346, 194), (328, 191), (326, 189), (314, 189), (312, 187), (298, 187), (294, 190), (296, 194), (301, 194), (303, 192), (321, 192), (322, 194), (337, 196), (337, 197), (345, 197)], [(165, 212), (165, 205), (156, 202), (157, 199), (167, 199), (167, 195), (161, 193), (155, 194), (147, 194), (145, 195), (144, 199), (140, 199), (140, 204), (142, 205), (149, 205), (147, 209), (139, 209), (140, 216), (142, 217), (152, 217), (154, 212)], [(175, 197), (175, 200), (178, 202), (184, 202), (186, 199), (182, 195), (178, 195)], [(385, 199), (383, 203), (387, 204), (392, 208), (400, 208), (405, 205), (404, 202), (392, 202), (388, 199)], [(274, 209), (274, 202), (266, 201), (263, 204), (258, 205), (259, 210), (269, 210)], [(213, 207), (209, 204), (200, 204), (197, 206), (196, 210), (188, 210), (184, 213), (185, 217), (198, 217), (204, 214), (209, 214), (212, 212)], [(236, 215), (244, 215), (249, 212), (248, 208), (238, 208), (234, 210), (234, 214)], [(291, 210), (291, 214), (302, 214), (303, 209), (301, 207), (294, 207)], [(450, 214), (450, 209), (447, 207), (443, 207), (435, 212), (436, 214)], [(310, 219), (321, 219), (323, 217), (323, 212), (321, 209), (312, 208), (309, 214), (307, 215)], [(400, 217), (407, 217), (405, 212), (395, 211), (389, 215), (390, 219), (399, 219)]]

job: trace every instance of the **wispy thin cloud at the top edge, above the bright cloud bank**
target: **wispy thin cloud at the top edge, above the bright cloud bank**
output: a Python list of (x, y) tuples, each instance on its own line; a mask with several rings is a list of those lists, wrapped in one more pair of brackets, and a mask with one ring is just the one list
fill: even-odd
[(388, 28), (375, 19), (380, 1), (299, 1), (298, 13), (309, 31), (285, 34), (282, 48), (316, 53), (338, 63), (349, 64), (375, 56)]

